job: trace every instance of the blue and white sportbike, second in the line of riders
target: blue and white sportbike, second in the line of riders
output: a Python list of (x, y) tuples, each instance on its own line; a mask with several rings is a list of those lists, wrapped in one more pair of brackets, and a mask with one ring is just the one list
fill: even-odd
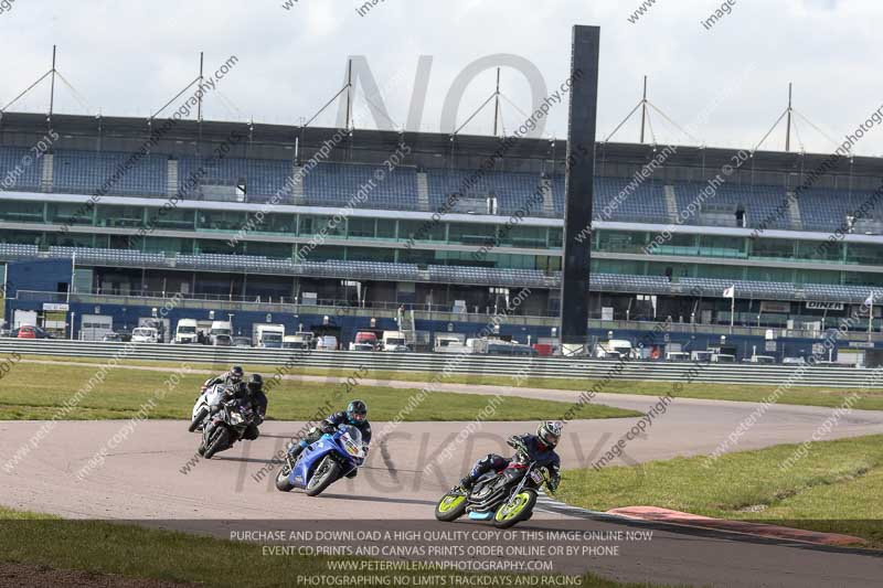
[(289, 455), (276, 475), (276, 488), (283, 492), (300, 488), (308, 496), (318, 496), (337, 480), (355, 475), (366, 455), (362, 431), (340, 425), (307, 446), (296, 462)]

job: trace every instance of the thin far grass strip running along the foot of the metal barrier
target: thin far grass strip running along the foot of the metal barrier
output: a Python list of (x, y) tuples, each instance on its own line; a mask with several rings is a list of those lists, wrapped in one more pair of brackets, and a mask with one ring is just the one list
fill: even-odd
[[(31, 355), (24, 356), (30, 360), (51, 360), (53, 357)], [(98, 359), (84, 359), (84, 357), (54, 357), (58, 361), (75, 362), (75, 363), (92, 363), (98, 365)], [(171, 365), (168, 362), (149, 362), (149, 361), (125, 361), (126, 365), (141, 365), (141, 366), (163, 366)], [(228, 368), (227, 365), (221, 364), (191, 364), (195, 370), (213, 370), (221, 372)], [(613, 366), (613, 364), (611, 364)], [(245, 365), (248, 372), (259, 372), (264, 374), (273, 374), (275, 367), (268, 365)], [(370, 368), (370, 366), (369, 366)], [(352, 375), (352, 371), (347, 370), (328, 370), (319, 367), (300, 367), (294, 368), (288, 372), (290, 375), (315, 375), (327, 377), (348, 377)], [(398, 382), (414, 382), (416, 385), (428, 383), (436, 374), (428, 372), (391, 372), (383, 370), (369, 370), (365, 377), (375, 379), (393, 379)], [(592, 388), (596, 381), (586, 377), (581, 377), (578, 373), (574, 373), (573, 377), (535, 377), (530, 376), (515, 379), (510, 376), (500, 376), (493, 374), (477, 374), (477, 375), (460, 375), (451, 374), (445, 377), (445, 384), (467, 384), (467, 385), (494, 385), (508, 386), (510, 388), (546, 388), (546, 389), (564, 389), (564, 391), (585, 391)], [(599, 382), (598, 382), (599, 383)], [(762, 402), (773, 394), (777, 386), (765, 384), (752, 384), (752, 382), (744, 382), (740, 384), (709, 384), (705, 382), (681, 382), (681, 389), (674, 392), (671, 382), (635, 382), (626, 379), (613, 379), (606, 385), (600, 387), (600, 392), (610, 394), (640, 394), (646, 396), (658, 396), (663, 394), (671, 394), (675, 398), (702, 398), (708, 400), (742, 400), (742, 402)], [(801, 405), (801, 406), (822, 406), (834, 408), (843, 404), (843, 400), (853, 392), (861, 392), (861, 399), (852, 407), (862, 410), (883, 410), (883, 389), (863, 389), (861, 387), (854, 388), (819, 388), (809, 386), (791, 386), (783, 391), (778, 395), (777, 404), (786, 405)], [(591, 417), (586, 417), (591, 418)]]

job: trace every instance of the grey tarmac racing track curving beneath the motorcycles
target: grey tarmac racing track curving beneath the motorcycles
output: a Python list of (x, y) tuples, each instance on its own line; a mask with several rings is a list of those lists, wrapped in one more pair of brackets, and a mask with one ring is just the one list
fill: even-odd
[[(448, 385), (446, 389), (502, 392), (493, 386)], [(519, 389), (517, 394), (574, 398), (573, 393), (561, 391)], [(272, 402), (270, 398), (270, 409)], [(602, 394), (597, 402), (646, 411), (657, 399)], [(751, 403), (677, 398), (647, 435), (627, 446), (628, 460), (634, 463), (710, 453), (756, 407)], [(742, 437), (737, 449), (802, 442), (830, 415), (830, 408), (772, 406)], [(636, 420), (568, 424), (560, 446), (564, 467), (589, 467)], [(434, 505), (476, 458), (489, 451), (503, 452), (502, 439), (535, 427), (534, 423), (485, 423), (469, 439), (458, 442), (457, 436), (466, 423), (404, 423), (385, 442), (374, 443), (366, 467), (355, 480), (338, 482), (321, 496), (310, 499), (298, 492), (284, 494), (275, 490), (275, 472), (263, 479), (258, 475), (262, 468), (267, 468), (269, 458), (300, 429), (301, 423), (268, 421), (257, 441), (241, 443), (211, 461), (200, 461), (183, 473), (188, 461), (193, 459), (198, 437), (187, 432), (183, 421), (145, 421), (107, 452), (103, 466), (77, 480), (76, 472), (125, 424), (58, 423), (11, 473), (0, 469), (0, 503), (72, 518), (136, 520), (225, 537), (233, 528), (279, 528), (283, 521), (296, 522), (288, 527), (325, 524), (325, 528), (333, 525), (338, 530), (384, 528), (404, 521), (421, 522), (426, 530), (492, 530), (487, 523), (437, 523)], [(384, 428), (383, 423), (373, 425), (375, 431)], [(0, 423), (2, 462), (40, 426), (29, 421)], [(881, 432), (883, 413), (854, 410), (826, 438)], [(445, 447), (453, 450), (450, 457), (438, 459)], [(424, 471), (434, 460), (438, 467)], [(713, 475), (713, 470), (710, 472)], [(642, 483), (637, 474), (635, 483)], [(541, 498), (534, 517), (517, 530), (571, 527), (599, 533), (651, 530), (652, 538), (623, 543), (615, 556), (553, 557), (556, 571), (592, 570), (623, 581), (725, 587), (879, 587), (883, 577), (883, 557), (865, 550), (629, 522), (568, 507), (546, 498)]]

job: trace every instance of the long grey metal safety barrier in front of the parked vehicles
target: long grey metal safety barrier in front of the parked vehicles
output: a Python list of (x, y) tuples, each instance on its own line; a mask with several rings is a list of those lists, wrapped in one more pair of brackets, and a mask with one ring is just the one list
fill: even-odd
[[(65, 340), (0, 339), (0, 355), (50, 355), (57, 357), (109, 359), (127, 343), (94, 343)], [(429, 372), (494, 375), (524, 378), (562, 377), (575, 381), (611, 377), (620, 381), (687, 381), (715, 384), (791, 384), (818, 387), (883, 388), (870, 370), (836, 365), (804, 367), (797, 365), (702, 364), (690, 362), (591, 360), (586, 357), (511, 357), (457, 353), (394, 353), (359, 351), (298, 351), (158, 343), (128, 344), (127, 360), (191, 364), (288, 365), (327, 370), (357, 370), (369, 366), (379, 371)], [(574, 384), (578, 387), (579, 384)]]

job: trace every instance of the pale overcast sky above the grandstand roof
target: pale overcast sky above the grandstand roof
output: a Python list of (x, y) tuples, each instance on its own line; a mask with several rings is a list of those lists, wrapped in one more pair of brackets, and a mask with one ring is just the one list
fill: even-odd
[[(734, 0), (731, 0), (733, 2)], [(649, 76), (650, 100), (692, 140), (651, 113), (659, 142), (754, 147), (783, 113), (787, 84), (795, 108), (834, 139), (883, 104), (880, 24), (873, 0), (735, 0), (730, 14), (703, 26), (716, 1), (656, 0), (636, 22), (640, 0), (385, 0), (366, 14), (348, 0), (2, 0), (0, 103), (6, 104), (50, 67), (58, 45), (58, 71), (82, 94), (81, 106), (57, 89), (63, 113), (142, 116), (162, 106), (198, 73), (228, 56), (238, 63), (206, 97), (209, 119), (298, 124), (343, 85), (348, 56), (363, 55), (390, 118), (405, 125), (421, 55), (432, 56), (421, 128), (439, 130), (451, 83), (470, 63), (511, 54), (534, 64), (550, 92), (568, 74), (571, 26), (602, 28), (598, 139), (606, 138), (640, 99)], [(477, 76), (460, 106), (462, 122), (492, 92), (493, 68)], [(531, 110), (524, 76), (504, 68), (503, 126), (511, 130)], [(359, 90), (358, 127), (374, 127)], [(45, 111), (49, 86), (12, 110)], [(332, 125), (337, 107), (317, 119)], [(492, 130), (492, 108), (465, 132)], [(638, 118), (615, 136), (637, 141)], [(566, 103), (553, 107), (546, 135), (566, 136)], [(797, 119), (794, 146), (830, 152), (834, 145)], [(648, 132), (649, 135), (649, 132)], [(784, 149), (784, 126), (765, 148)], [(854, 148), (883, 154), (874, 129)]]

